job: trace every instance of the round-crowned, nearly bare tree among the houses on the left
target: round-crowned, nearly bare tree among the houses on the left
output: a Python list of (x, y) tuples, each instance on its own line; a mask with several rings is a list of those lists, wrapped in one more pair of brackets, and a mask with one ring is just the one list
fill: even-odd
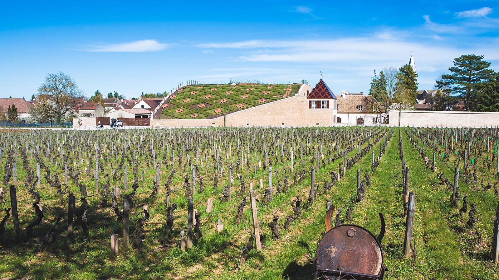
[(59, 125), (64, 117), (74, 112), (80, 96), (82, 92), (71, 77), (62, 72), (47, 74), (45, 83), (38, 88), (30, 115), (39, 121), (55, 121)]

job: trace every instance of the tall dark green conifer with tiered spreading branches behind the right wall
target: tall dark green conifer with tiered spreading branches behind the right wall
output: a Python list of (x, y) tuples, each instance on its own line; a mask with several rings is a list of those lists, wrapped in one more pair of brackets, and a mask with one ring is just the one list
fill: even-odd
[(494, 70), (489, 69), (483, 55), (462, 55), (454, 60), (454, 67), (449, 68), (451, 74), (442, 75), (442, 80), (436, 81), (436, 87), (445, 90), (449, 95), (460, 97), (465, 101), (467, 110), (478, 110), (479, 102), (475, 95), (483, 88), (483, 83), (489, 81)]

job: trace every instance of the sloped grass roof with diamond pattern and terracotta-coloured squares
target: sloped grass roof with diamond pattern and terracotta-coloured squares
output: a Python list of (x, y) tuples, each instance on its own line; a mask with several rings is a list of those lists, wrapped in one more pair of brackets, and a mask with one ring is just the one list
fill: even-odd
[[(203, 119), (218, 117), (272, 102), (298, 92), (299, 84), (238, 84), (187, 86), (166, 101), (161, 119)], [(264, 98), (264, 102), (260, 102)], [(204, 105), (201, 105), (204, 104)], [(201, 106), (199, 106), (201, 105)], [(182, 109), (182, 110), (179, 110)], [(194, 116), (194, 117), (193, 117)]]

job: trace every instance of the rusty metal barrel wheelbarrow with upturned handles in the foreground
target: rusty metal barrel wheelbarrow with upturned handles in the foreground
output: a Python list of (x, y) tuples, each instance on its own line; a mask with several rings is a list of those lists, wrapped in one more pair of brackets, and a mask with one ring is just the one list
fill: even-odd
[(385, 235), (385, 219), (381, 219), (378, 237), (367, 229), (353, 224), (332, 227), (331, 215), (334, 206), (326, 213), (326, 234), (319, 241), (317, 255), (310, 263), (314, 265), (317, 280), (383, 280), (385, 271), (381, 240)]

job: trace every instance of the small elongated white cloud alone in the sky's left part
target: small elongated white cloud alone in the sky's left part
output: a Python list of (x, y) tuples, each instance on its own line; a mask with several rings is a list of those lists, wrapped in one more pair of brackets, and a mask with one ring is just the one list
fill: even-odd
[(87, 52), (155, 52), (170, 47), (172, 44), (161, 44), (156, 40), (140, 40), (129, 43), (89, 45)]

